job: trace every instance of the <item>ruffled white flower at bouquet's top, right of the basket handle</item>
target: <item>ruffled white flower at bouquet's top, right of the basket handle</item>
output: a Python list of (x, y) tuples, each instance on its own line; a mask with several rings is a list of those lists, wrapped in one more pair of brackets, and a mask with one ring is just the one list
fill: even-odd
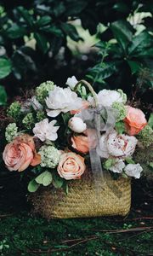
[[(111, 107), (114, 102), (125, 102), (125, 94), (116, 90), (100, 90), (97, 94), (98, 102), (100, 106)], [(88, 101), (94, 105), (94, 98), (88, 96)]]

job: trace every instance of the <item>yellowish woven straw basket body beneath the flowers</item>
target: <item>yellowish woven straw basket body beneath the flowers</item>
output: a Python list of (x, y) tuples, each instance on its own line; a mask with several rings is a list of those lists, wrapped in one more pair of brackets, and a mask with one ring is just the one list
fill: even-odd
[(38, 189), (31, 196), (34, 212), (45, 218), (84, 218), (106, 215), (125, 216), (131, 206), (131, 181), (120, 177), (113, 180), (106, 175), (105, 182), (95, 188), (91, 172), (69, 184), (68, 195), (53, 187)]

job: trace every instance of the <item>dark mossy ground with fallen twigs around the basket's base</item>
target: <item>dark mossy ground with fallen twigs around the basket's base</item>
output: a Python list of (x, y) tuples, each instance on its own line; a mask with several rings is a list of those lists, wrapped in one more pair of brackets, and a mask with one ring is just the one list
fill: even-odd
[[(32, 214), (26, 197), (21, 195), (22, 189), (14, 189), (14, 195), (10, 187), (1, 190), (0, 248), (3, 256), (153, 255), (153, 198), (147, 183), (133, 184), (133, 205), (127, 218), (48, 221)], [(134, 228), (139, 230), (132, 231)]]

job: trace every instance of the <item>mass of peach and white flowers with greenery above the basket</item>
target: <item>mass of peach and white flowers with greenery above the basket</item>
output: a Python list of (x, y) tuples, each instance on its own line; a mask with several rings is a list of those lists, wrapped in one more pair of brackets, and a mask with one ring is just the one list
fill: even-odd
[[(126, 105), (122, 90), (95, 93), (89, 84), (91, 93), (82, 96), (78, 84), (88, 82), (78, 82), (73, 76), (63, 89), (47, 81), (26, 102), (14, 102), (8, 108), (13, 121), (5, 129), (8, 143), (3, 147), (3, 161), (8, 171), (28, 173), (31, 192), (41, 185), (65, 187), (68, 180), (85, 178), (92, 154), (95, 163), (100, 159), (104, 172), (135, 178), (142, 173), (133, 154), (139, 144), (137, 134), (147, 125), (144, 113)], [(111, 122), (115, 105), (119, 123), (116, 119)], [(105, 116), (107, 108), (109, 115)], [(118, 130), (120, 126), (122, 130)]]

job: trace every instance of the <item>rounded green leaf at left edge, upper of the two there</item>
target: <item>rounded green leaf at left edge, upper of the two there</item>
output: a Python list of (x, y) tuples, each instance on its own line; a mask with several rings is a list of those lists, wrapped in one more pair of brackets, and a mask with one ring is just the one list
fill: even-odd
[(12, 71), (11, 61), (5, 58), (0, 58), (0, 79), (4, 79)]

